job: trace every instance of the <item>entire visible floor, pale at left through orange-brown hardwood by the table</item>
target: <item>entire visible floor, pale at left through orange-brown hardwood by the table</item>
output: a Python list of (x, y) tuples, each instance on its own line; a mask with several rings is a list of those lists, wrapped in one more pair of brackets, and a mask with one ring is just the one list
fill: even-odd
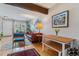
[[(7, 39), (7, 41), (5, 41), (5, 39)], [(3, 40), (0, 41), (0, 44), (1, 44), (0, 56), (7, 56), (7, 54), (13, 52), (12, 49), (10, 49), (10, 50), (8, 49), (9, 46), (7, 45), (7, 44), (9, 44), (11, 42), (11, 39), (12, 38), (7, 37), (7, 38), (3, 38)], [(31, 49), (33, 47), (38, 51), (38, 53), (41, 56), (57, 56), (57, 52), (55, 52), (55, 51), (53, 51), (51, 49), (46, 48), (44, 51), (42, 51), (42, 44), (41, 43), (33, 43), (31, 46), (28, 46), (28, 47), (26, 46), (25, 49), (29, 49), (29, 48)], [(21, 48), (20, 49), (15, 49), (14, 51), (17, 51), (17, 50), (21, 50)]]

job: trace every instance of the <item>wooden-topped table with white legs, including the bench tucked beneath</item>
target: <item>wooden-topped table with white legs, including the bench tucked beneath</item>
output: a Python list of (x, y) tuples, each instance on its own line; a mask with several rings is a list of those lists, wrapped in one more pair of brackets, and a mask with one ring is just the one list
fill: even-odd
[[(50, 43), (46, 43), (45, 41), (52, 41)], [(66, 50), (66, 44), (70, 43), (70, 47), (73, 46), (73, 39), (71, 38), (66, 38), (66, 37), (60, 37), (60, 36), (55, 36), (55, 35), (44, 35), (43, 36), (43, 40), (42, 40), (42, 49), (44, 50), (44, 45), (57, 51), (59, 53), (59, 55), (65, 55), (65, 50)], [(53, 42), (57, 42), (57, 43), (53, 43)], [(59, 45), (59, 44), (61, 45)], [(53, 45), (53, 46), (52, 46)]]

